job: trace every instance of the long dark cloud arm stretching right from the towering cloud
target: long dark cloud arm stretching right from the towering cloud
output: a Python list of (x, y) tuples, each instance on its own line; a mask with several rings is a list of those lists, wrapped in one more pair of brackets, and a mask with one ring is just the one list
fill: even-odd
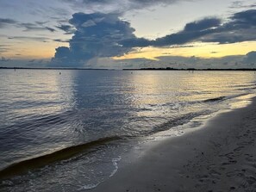
[(218, 18), (204, 18), (197, 22), (187, 23), (182, 31), (168, 34), (156, 40), (133, 38), (124, 40), (123, 46), (172, 46), (183, 45), (193, 41), (236, 43), (256, 40), (256, 10), (249, 9), (235, 13), (228, 22), (222, 23)]

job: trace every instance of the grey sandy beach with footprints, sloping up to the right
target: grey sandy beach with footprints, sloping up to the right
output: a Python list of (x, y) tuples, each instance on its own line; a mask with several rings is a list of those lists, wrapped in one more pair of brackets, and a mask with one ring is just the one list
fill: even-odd
[(90, 191), (256, 191), (256, 99), (165, 139)]

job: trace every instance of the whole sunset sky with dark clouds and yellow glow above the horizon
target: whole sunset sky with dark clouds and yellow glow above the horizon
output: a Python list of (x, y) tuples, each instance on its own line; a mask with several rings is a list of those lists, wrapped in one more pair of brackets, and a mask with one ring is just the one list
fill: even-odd
[(0, 66), (256, 67), (252, 0), (0, 0)]

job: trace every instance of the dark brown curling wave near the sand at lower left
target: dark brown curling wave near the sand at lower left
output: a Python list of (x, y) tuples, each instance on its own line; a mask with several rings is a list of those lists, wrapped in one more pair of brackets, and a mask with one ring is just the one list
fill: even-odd
[(29, 158), (26, 160), (16, 162), (14, 164), (9, 164), (9, 166), (3, 168), (3, 170), (0, 170), (0, 179), (21, 175), (22, 173), (28, 172), (28, 170), (34, 170), (36, 168), (41, 168), (48, 164), (53, 164), (61, 160), (66, 160), (68, 158), (74, 157), (75, 155), (78, 155), (81, 152), (89, 151), (94, 147), (103, 146), (111, 141), (117, 141), (121, 139), (125, 138), (113, 136), (97, 139), (89, 143), (81, 144), (78, 146), (69, 146), (57, 152), (52, 152), (36, 158)]

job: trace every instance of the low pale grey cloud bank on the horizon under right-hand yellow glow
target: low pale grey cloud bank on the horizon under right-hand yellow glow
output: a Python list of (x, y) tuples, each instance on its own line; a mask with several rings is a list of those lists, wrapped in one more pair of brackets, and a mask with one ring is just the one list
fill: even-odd
[(92, 65), (94, 68), (252, 68), (253, 63), (245, 62), (247, 55), (231, 55), (222, 58), (200, 58), (197, 56), (160, 56), (156, 59), (98, 59), (97, 65)]

